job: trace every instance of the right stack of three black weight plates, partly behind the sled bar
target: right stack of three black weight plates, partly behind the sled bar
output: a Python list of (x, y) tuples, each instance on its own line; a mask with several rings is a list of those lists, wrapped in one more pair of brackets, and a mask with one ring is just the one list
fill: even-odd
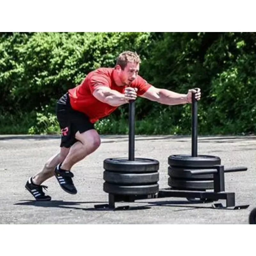
[[(172, 155), (168, 157), (168, 185), (177, 190), (213, 189), (213, 174), (191, 174), (190, 170), (211, 169), (220, 165), (218, 156)], [(212, 168), (213, 169), (213, 168)]]

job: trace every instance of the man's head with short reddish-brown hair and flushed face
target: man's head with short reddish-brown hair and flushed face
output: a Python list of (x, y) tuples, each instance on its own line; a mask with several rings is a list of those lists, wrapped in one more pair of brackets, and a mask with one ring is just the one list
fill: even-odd
[(136, 52), (120, 53), (115, 66), (118, 84), (129, 86), (139, 73), (140, 63), (140, 57)]

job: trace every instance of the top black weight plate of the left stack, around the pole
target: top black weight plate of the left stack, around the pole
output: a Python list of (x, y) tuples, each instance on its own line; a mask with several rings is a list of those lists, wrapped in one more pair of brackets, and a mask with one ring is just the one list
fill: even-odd
[(135, 158), (129, 161), (127, 158), (107, 158), (103, 162), (103, 168), (111, 172), (157, 172), (159, 162), (149, 158)]

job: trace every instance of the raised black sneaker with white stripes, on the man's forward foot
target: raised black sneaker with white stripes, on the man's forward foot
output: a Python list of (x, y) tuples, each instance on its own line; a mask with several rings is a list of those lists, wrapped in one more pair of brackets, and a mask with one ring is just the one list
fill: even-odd
[(74, 174), (70, 171), (62, 170), (60, 168), (61, 164), (58, 164), (55, 167), (54, 175), (56, 179), (58, 180), (60, 187), (68, 192), (69, 194), (76, 194), (77, 190), (74, 186), (72, 178), (74, 177)]

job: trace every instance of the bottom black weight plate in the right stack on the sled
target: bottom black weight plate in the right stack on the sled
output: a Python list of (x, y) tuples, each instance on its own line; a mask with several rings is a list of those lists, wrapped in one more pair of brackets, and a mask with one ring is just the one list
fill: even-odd
[(168, 178), (170, 187), (186, 190), (188, 189), (213, 189), (213, 180), (179, 180)]

